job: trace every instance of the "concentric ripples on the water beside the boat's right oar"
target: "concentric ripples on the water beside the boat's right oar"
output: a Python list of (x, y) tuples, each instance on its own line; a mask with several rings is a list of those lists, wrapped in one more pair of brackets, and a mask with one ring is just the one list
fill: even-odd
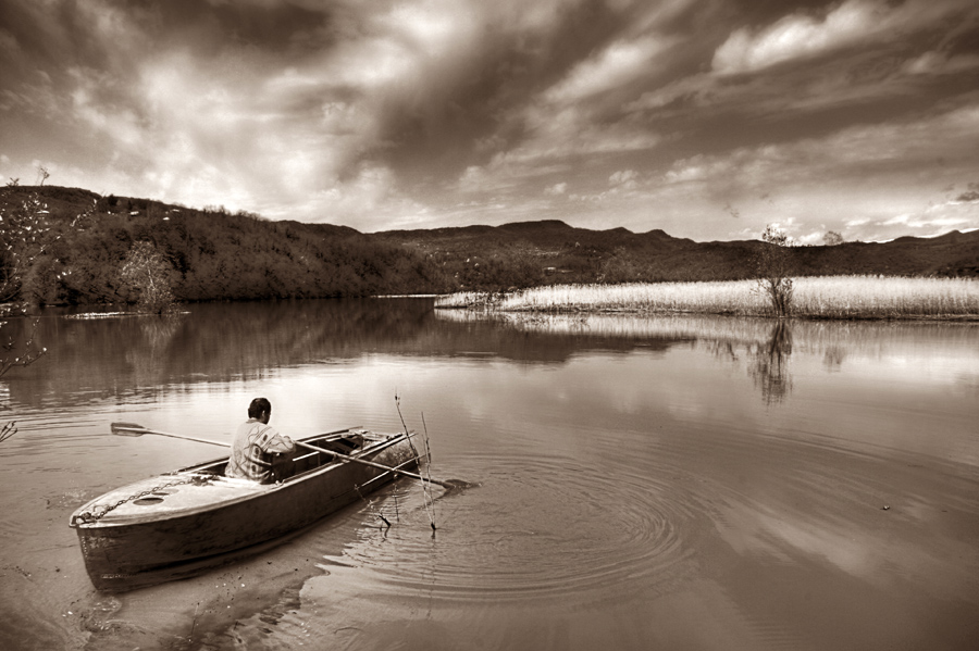
[[(400, 498), (400, 526), (362, 529), (346, 560), (373, 567), (393, 588), (453, 599), (584, 593), (636, 581), (648, 588), (683, 572), (690, 548), (682, 530), (693, 511), (657, 479), (668, 473), (610, 472), (567, 458), (475, 461), (481, 486), (435, 502), (434, 535), (416, 489)], [(384, 510), (389, 518), (392, 499)]]

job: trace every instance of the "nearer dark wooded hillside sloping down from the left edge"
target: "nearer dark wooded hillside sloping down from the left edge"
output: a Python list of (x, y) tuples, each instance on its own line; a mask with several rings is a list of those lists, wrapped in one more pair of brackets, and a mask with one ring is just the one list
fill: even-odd
[[(38, 190), (61, 235), (24, 280), (25, 298), (42, 304), (131, 301), (120, 267), (137, 241), (172, 264), (178, 300), (249, 300), (431, 292), (448, 289), (417, 251), (351, 228), (268, 222), (153, 201), (99, 197), (72, 188), (7, 188), (16, 203)], [(91, 215), (67, 224), (86, 208)]]

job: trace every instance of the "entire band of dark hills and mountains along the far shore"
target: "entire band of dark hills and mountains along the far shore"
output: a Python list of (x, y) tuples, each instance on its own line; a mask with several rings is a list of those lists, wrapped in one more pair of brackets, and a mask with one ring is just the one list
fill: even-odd
[[(768, 246), (695, 242), (661, 230), (590, 230), (554, 221), (362, 234), (57, 186), (3, 188), (0, 208), (9, 213), (35, 193), (50, 241), (32, 258), (18, 285), (22, 298), (38, 304), (136, 300), (133, 287), (121, 278), (136, 242), (150, 242), (161, 253), (173, 295), (182, 301), (742, 279), (754, 276), (756, 253)], [(90, 214), (72, 225), (86, 211)], [(9, 240), (9, 228), (0, 231)], [(2, 243), (8, 251), (3, 271), (9, 273), (11, 242)], [(797, 275), (977, 276), (979, 231), (798, 247), (790, 256)]]

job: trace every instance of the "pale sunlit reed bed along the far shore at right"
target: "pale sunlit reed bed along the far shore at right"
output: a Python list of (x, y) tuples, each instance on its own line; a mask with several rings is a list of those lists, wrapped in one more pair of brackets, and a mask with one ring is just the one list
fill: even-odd
[[(979, 281), (968, 278), (823, 276), (794, 280), (792, 315), (808, 318), (979, 316)], [(506, 295), (466, 292), (438, 308), (505, 312), (694, 312), (771, 316), (756, 280), (623, 285), (555, 285)]]

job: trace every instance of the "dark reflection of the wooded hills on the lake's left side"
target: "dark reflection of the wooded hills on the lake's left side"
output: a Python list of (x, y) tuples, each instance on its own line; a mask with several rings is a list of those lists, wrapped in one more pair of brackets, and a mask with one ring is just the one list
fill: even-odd
[[(499, 324), (439, 318), (430, 299), (201, 303), (175, 316), (37, 321), (48, 354), (4, 379), (10, 403), (41, 408), (63, 401), (154, 400), (200, 383), (265, 377), (305, 364), (344, 364), (364, 355), (495, 356), (562, 363), (582, 348), (628, 351), (621, 337), (555, 337)], [(8, 326), (17, 338), (30, 322)], [(647, 343), (646, 343), (647, 346)]]

